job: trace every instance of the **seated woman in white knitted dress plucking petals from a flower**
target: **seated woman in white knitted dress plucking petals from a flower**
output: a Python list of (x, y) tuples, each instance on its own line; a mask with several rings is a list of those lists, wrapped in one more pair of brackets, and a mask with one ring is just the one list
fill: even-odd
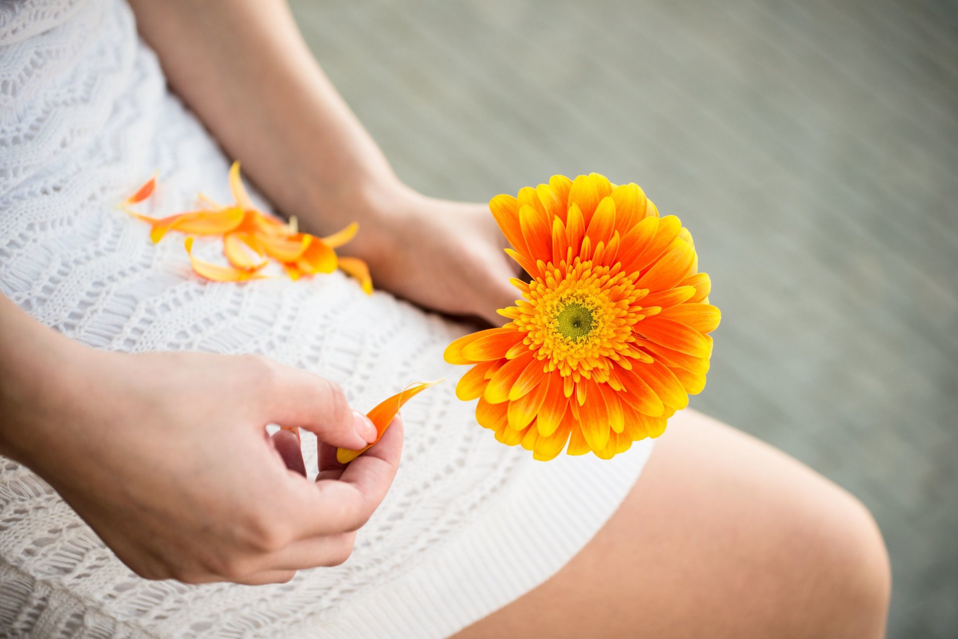
[[(484, 207), (399, 182), (279, 0), (0, 11), (0, 451), (16, 460), (0, 478), (0, 627), (882, 635), (870, 515), (691, 411), (648, 464), (648, 441), (536, 464), (445, 384), (404, 409), (401, 464), (398, 421), (337, 466), (332, 446), (374, 437), (363, 410), (455, 375), (441, 355), (464, 329), (400, 298), (490, 321), (511, 303)], [(307, 230), (359, 221), (347, 248), (388, 292), (338, 274), (203, 283), (178, 242), (151, 244), (115, 209), (154, 169), (156, 212), (185, 209), (224, 182), (227, 154)], [(305, 463), (284, 431), (263, 438), (272, 422), (307, 432)], [(287, 470), (317, 459), (316, 483)]]

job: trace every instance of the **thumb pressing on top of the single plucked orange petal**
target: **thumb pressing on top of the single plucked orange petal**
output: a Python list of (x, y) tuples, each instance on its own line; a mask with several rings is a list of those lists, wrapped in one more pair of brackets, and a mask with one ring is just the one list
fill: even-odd
[(376, 441), (376, 426), (350, 407), (339, 384), (297, 368), (272, 366), (267, 419), (305, 428), (321, 442), (357, 450)]

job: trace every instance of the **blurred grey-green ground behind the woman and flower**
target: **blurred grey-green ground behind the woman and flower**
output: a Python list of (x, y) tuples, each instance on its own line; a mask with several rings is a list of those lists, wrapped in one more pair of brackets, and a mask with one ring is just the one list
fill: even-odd
[(958, 5), (294, 0), (399, 175), (638, 182), (722, 309), (696, 408), (875, 513), (890, 636), (958, 636)]

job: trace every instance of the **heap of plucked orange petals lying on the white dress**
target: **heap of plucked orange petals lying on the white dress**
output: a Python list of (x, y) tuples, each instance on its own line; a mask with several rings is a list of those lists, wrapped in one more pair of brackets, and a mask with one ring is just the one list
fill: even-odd
[(346, 228), (326, 238), (299, 233), (296, 218), (285, 224), (279, 219), (262, 213), (253, 205), (246, 187), (239, 176), (239, 162), (234, 162), (229, 172), (230, 191), (236, 200), (233, 204), (220, 205), (204, 194), (198, 194), (201, 208), (167, 217), (144, 216), (132, 210), (132, 205), (146, 200), (156, 190), (156, 175), (130, 195), (121, 204), (129, 215), (147, 222), (152, 228), (150, 240), (158, 242), (170, 231), (179, 231), (190, 236), (218, 236), (223, 241), (223, 257), (229, 266), (203, 262), (192, 254), (193, 238), (186, 242), (187, 253), (194, 272), (214, 282), (243, 282), (262, 279), (260, 270), (269, 260), (279, 262), (285, 274), (292, 280), (304, 275), (331, 273), (341, 268), (359, 281), (367, 295), (373, 293), (373, 280), (369, 266), (358, 258), (342, 258), (336, 255), (339, 248), (353, 240), (359, 225), (353, 222)]

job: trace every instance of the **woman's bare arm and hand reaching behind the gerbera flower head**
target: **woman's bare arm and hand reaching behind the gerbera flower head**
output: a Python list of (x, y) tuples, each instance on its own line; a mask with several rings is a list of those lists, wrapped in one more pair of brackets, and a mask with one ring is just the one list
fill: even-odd
[(512, 304), (515, 267), (483, 206), (404, 186), (326, 78), (285, 0), (132, 0), (175, 90), (287, 216), (326, 234), (377, 287), (425, 307), (482, 315)]

